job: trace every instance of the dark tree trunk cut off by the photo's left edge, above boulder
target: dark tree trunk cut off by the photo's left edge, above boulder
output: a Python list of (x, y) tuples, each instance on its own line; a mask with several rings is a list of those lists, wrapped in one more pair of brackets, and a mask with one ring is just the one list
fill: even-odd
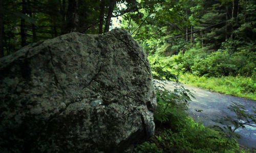
[(4, 12), (3, 12), (3, 1), (0, 0), (0, 57), (4, 57)]

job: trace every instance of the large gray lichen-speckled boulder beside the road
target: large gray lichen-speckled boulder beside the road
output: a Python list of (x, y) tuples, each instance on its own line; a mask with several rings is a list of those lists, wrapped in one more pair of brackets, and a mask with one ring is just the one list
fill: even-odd
[(125, 30), (0, 59), (0, 152), (122, 152), (154, 135), (151, 69)]

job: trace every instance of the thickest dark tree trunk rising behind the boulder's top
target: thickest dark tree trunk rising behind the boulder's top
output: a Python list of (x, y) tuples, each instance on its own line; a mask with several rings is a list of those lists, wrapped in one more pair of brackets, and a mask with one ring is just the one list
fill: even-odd
[(79, 25), (78, 0), (69, 0), (66, 33), (76, 32)]

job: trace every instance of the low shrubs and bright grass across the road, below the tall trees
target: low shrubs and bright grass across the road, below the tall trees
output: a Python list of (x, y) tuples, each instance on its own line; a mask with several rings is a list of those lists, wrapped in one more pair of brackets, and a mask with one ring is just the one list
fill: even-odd
[[(228, 51), (220, 49), (217, 52), (207, 53), (205, 48), (191, 48), (172, 57), (155, 54), (148, 56), (148, 59), (151, 63), (159, 63), (157, 66), (159, 69), (163, 68), (162, 74), (179, 75), (179, 80), (183, 83), (224, 94), (256, 99), (256, 53), (252, 51), (253, 43), (248, 43), (247, 46), (238, 43), (234, 41), (223, 43), (223, 49)], [(152, 67), (154, 70), (156, 65), (152, 64)]]

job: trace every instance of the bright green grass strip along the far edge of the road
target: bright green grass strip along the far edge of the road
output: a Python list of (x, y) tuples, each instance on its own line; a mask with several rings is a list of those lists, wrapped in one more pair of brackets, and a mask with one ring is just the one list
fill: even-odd
[(211, 91), (256, 100), (256, 82), (250, 77), (223, 76), (207, 78), (185, 73), (179, 75), (179, 80), (182, 83)]

